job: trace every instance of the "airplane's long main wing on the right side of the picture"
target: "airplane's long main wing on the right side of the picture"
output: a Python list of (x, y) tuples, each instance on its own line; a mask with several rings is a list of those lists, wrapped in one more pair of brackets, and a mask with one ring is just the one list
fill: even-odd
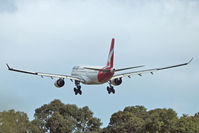
[(174, 68), (174, 67), (180, 67), (180, 66), (185, 66), (185, 65), (188, 65), (191, 61), (193, 60), (193, 58), (186, 62), (186, 63), (182, 63), (182, 64), (178, 64), (178, 65), (173, 65), (173, 66), (167, 66), (167, 67), (160, 67), (160, 68), (154, 68), (154, 69), (146, 69), (146, 70), (141, 70), (141, 71), (134, 71), (134, 72), (127, 72), (127, 73), (121, 73), (121, 74), (116, 74), (114, 75), (111, 80), (114, 80), (116, 78), (123, 78), (123, 77), (131, 77), (131, 76), (134, 76), (134, 75), (139, 75), (139, 76), (142, 76), (142, 74), (145, 74), (145, 73), (151, 73), (153, 74), (154, 72), (157, 72), (159, 70), (165, 70), (165, 69), (170, 69), (170, 68)]

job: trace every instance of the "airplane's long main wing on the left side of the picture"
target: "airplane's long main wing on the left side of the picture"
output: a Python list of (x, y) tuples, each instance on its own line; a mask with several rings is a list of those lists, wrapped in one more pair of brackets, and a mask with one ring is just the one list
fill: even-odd
[(73, 77), (73, 76), (68, 76), (68, 75), (60, 75), (60, 74), (50, 74), (50, 73), (19, 70), (19, 69), (11, 68), (8, 64), (6, 64), (6, 65), (8, 67), (8, 70), (10, 70), (10, 71), (21, 72), (21, 73), (32, 74), (32, 75), (38, 75), (38, 76), (41, 76), (41, 77), (63, 78), (63, 79), (70, 79), (70, 80), (77, 80), (77, 81), (80, 81), (80, 82), (84, 82), (84, 80), (82, 80), (78, 77)]

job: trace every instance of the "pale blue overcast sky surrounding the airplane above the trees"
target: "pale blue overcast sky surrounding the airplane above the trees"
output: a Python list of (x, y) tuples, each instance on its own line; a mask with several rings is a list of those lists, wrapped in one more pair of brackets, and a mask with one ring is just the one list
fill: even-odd
[[(185, 67), (124, 78), (116, 94), (107, 84), (57, 89), (56, 79), (7, 71), (5, 66), (70, 75), (74, 65), (106, 64), (116, 39), (115, 67)], [(198, 0), (0, 0), (0, 111), (34, 109), (54, 99), (89, 106), (107, 126), (126, 106), (173, 108), (179, 116), (199, 112)]]

